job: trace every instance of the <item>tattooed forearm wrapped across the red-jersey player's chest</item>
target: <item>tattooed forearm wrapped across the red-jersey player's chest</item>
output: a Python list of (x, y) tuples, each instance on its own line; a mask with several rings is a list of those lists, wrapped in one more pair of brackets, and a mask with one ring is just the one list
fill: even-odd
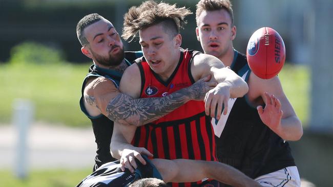
[(209, 86), (198, 81), (161, 98), (132, 99), (119, 94), (108, 104), (106, 112), (112, 121), (140, 126), (158, 120), (191, 99), (203, 100), (207, 90)]

